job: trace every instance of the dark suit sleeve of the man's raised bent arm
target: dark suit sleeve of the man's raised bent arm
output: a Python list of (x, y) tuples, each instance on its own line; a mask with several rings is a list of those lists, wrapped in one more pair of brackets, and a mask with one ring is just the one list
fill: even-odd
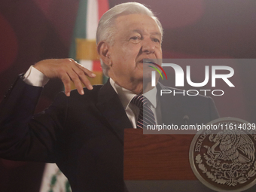
[(59, 140), (65, 122), (62, 93), (40, 114), (34, 114), (41, 87), (18, 78), (0, 105), (0, 157), (54, 163), (61, 156)]

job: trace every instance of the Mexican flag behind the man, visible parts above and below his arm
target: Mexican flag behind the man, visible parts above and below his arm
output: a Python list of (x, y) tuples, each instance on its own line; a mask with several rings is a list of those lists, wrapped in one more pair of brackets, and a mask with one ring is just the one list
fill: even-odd
[[(81, 0), (72, 36), (69, 57), (96, 74), (91, 84), (103, 84), (104, 78), (96, 51), (96, 29), (100, 17), (108, 11), (108, 0)], [(75, 89), (75, 87), (73, 87)], [(68, 179), (54, 163), (44, 168), (40, 192), (71, 192)]]

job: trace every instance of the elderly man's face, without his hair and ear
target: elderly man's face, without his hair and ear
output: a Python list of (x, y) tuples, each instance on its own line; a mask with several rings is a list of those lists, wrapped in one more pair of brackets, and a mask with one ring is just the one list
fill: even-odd
[(109, 48), (111, 69), (108, 74), (122, 87), (143, 80), (142, 59), (161, 59), (161, 33), (157, 23), (147, 15), (117, 17), (114, 44)]

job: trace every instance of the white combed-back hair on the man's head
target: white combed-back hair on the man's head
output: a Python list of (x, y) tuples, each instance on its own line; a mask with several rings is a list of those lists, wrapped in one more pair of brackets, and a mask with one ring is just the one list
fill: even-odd
[[(96, 44), (100, 41), (106, 41), (108, 44), (114, 44), (114, 20), (122, 15), (129, 14), (145, 14), (151, 17), (157, 23), (157, 26), (160, 29), (161, 35), (163, 36), (163, 27), (160, 21), (155, 17), (154, 13), (146, 8), (144, 5), (137, 2), (127, 2), (120, 5), (114, 6), (99, 20), (99, 25), (96, 33)], [(108, 66), (100, 59), (103, 74), (108, 77)]]

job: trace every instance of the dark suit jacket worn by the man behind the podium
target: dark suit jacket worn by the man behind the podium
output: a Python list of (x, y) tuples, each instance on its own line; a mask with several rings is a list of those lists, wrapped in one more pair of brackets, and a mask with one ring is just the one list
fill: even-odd
[[(158, 85), (158, 89), (164, 88)], [(41, 87), (18, 78), (0, 105), (0, 157), (56, 163), (73, 192), (123, 191), (123, 129), (131, 128), (111, 84), (59, 93), (49, 108), (33, 115)], [(218, 117), (211, 98), (166, 96), (165, 123), (207, 123)]]

